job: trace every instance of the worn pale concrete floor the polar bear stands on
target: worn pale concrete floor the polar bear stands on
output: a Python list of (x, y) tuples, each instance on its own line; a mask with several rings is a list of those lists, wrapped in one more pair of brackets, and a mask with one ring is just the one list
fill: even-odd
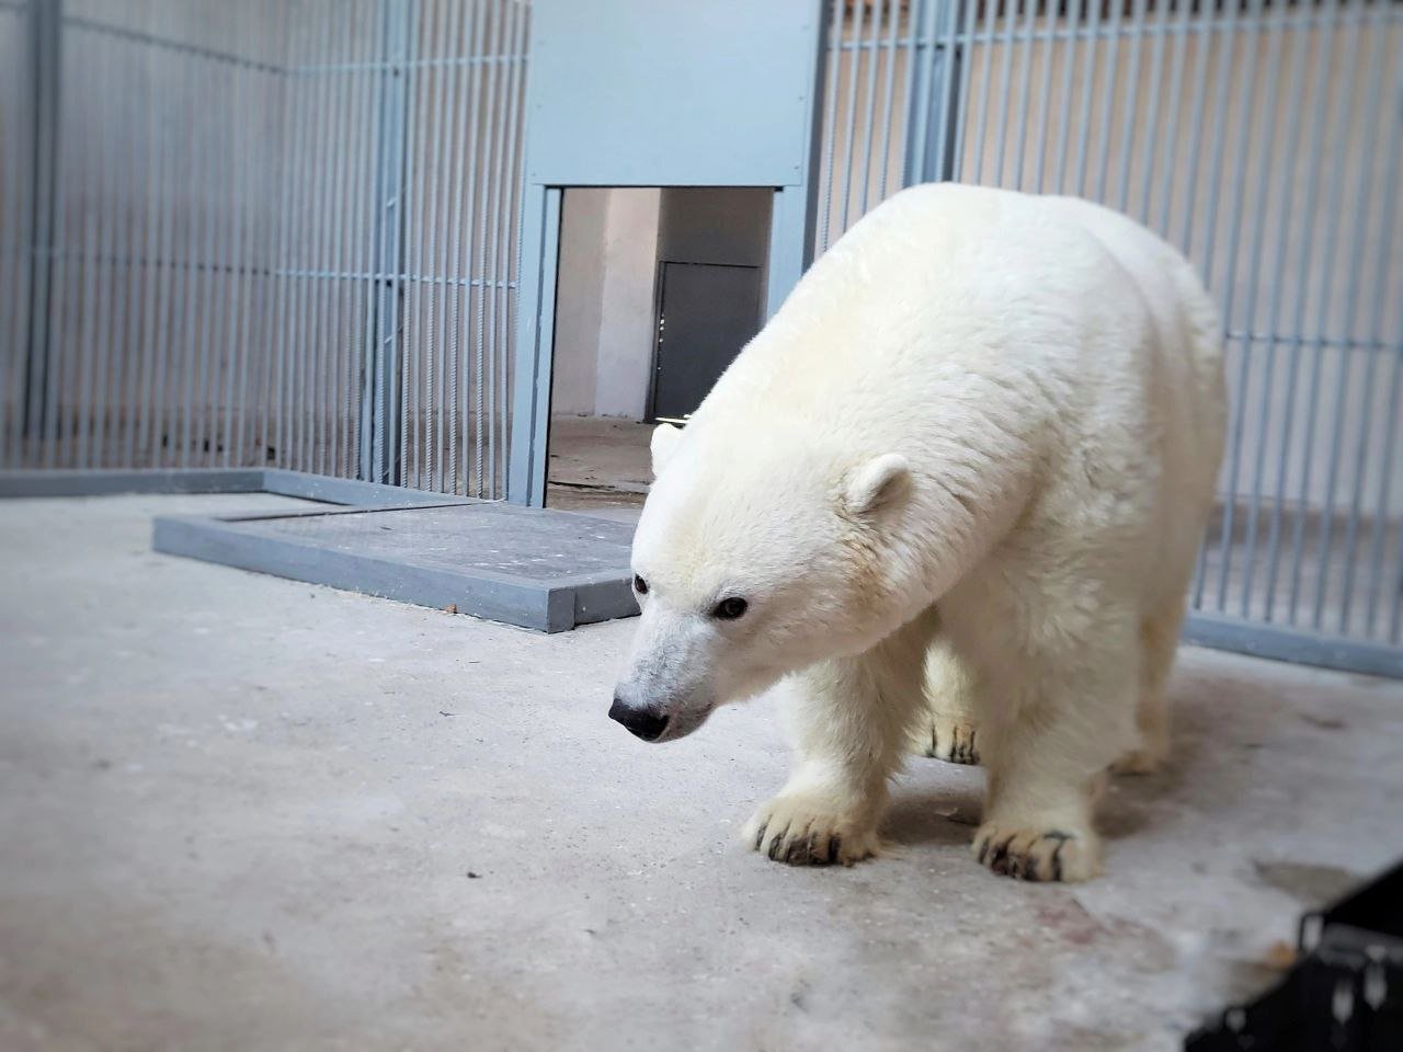
[(773, 697), (648, 748), (631, 626), (557, 637), (152, 554), (268, 497), (0, 502), (0, 1048), (1172, 1049), (1403, 843), (1397, 683), (1187, 651), (1108, 872), (967, 854), (916, 760), (897, 854), (735, 830)]

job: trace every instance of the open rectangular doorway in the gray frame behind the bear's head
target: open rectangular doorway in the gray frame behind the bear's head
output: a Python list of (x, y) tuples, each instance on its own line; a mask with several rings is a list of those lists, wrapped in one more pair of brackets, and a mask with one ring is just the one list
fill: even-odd
[(773, 191), (564, 191), (546, 502), (630, 519), (657, 422), (685, 425), (765, 321)]

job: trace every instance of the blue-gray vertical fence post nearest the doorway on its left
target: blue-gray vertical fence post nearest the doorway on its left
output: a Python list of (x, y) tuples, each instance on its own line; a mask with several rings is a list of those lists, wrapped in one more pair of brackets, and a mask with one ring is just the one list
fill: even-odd
[(384, 0), (384, 69), (380, 73), (380, 126), (376, 136), (376, 268), (372, 324), (366, 332), (361, 382), (359, 476), (398, 485), (400, 457), (400, 275), (404, 272), (404, 167), (408, 130), (408, 76), (412, 0)]

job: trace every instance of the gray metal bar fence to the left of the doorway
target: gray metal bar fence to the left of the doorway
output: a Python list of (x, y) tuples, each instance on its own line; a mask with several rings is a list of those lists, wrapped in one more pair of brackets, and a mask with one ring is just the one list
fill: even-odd
[(522, 0), (0, 0), (0, 466), (499, 497)]

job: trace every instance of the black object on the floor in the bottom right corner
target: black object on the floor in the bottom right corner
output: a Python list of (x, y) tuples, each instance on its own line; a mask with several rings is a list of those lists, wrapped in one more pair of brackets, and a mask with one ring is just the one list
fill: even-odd
[(1296, 965), (1229, 1009), (1186, 1052), (1400, 1052), (1403, 863), (1301, 920)]

